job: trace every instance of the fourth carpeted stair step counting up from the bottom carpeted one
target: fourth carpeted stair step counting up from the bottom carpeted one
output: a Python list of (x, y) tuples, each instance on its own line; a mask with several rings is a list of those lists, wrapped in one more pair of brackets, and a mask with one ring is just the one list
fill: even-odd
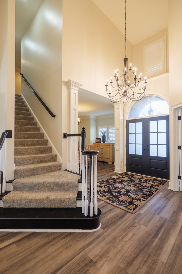
[(15, 166), (24, 166), (32, 164), (42, 164), (48, 162), (56, 162), (57, 154), (47, 153), (47, 154), (36, 154), (36, 155), (25, 155), (25, 156), (15, 156)]

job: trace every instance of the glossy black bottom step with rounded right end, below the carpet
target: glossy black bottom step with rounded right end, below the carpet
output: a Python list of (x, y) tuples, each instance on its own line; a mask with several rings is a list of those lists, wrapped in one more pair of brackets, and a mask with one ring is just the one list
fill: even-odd
[(0, 229), (97, 229), (102, 212), (93, 217), (81, 208), (3, 208), (0, 207)]

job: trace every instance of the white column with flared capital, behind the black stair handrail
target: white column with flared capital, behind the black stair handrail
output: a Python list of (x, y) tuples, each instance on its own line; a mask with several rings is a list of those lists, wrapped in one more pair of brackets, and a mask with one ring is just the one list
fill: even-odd
[(72, 80), (66, 81), (70, 92), (70, 134), (78, 133), (78, 89), (82, 84)]

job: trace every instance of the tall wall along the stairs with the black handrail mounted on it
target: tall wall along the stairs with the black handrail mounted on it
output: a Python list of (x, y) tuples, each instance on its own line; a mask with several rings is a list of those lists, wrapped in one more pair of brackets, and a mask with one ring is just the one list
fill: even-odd
[(21, 55), (23, 75), (56, 117), (50, 116), (23, 80), (22, 94), (61, 155), (62, 1), (43, 1), (22, 38)]

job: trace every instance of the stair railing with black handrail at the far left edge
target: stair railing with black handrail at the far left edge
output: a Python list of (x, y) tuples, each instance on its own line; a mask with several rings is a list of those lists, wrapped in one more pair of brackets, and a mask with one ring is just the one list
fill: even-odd
[(0, 169), (1, 169), (1, 152), (2, 152), (2, 148), (4, 149), (4, 153), (3, 153), (3, 172), (1, 178), (3, 177), (3, 182), (1, 180), (1, 195), (2, 193), (4, 193), (6, 191), (6, 137), (8, 135), (8, 131), (4, 131), (1, 135), (0, 138)]

